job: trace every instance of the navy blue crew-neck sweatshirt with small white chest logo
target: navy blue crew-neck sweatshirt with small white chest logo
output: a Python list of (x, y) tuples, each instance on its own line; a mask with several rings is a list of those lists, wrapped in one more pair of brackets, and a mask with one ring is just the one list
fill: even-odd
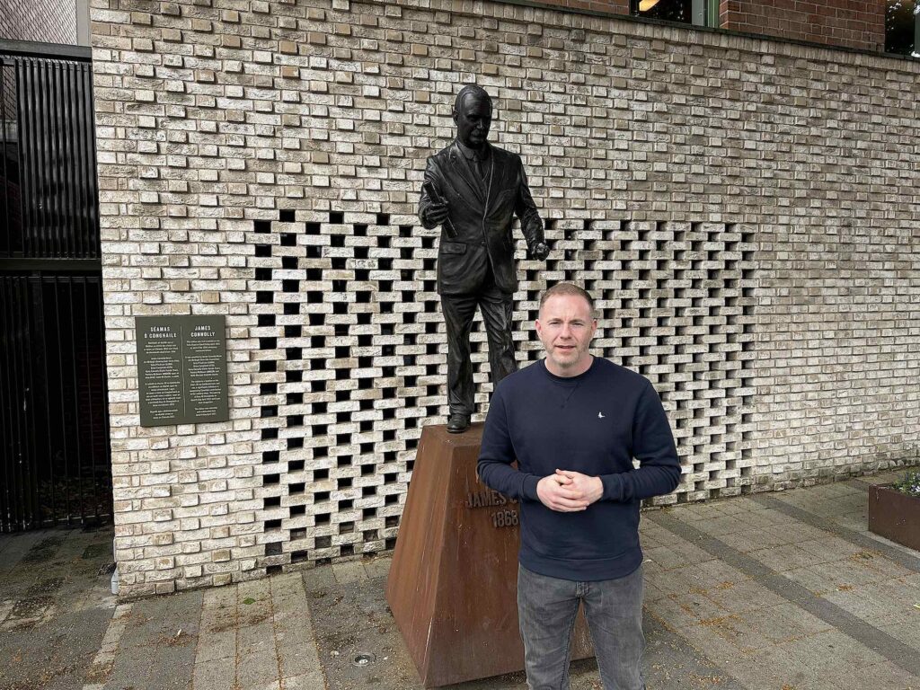
[[(536, 484), (557, 468), (601, 477), (604, 495), (585, 511), (551, 511)], [(638, 568), (639, 500), (673, 491), (681, 466), (649, 381), (595, 357), (578, 376), (550, 374), (541, 360), (505, 377), (491, 399), (477, 472), (521, 501), (524, 568), (598, 581)]]

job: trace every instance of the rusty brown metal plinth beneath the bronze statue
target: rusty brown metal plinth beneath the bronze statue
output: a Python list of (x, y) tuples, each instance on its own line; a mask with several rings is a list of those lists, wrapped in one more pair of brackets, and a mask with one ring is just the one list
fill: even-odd
[[(386, 601), (426, 687), (523, 669), (517, 502), (480, 484), (482, 425), (421, 434)], [(572, 657), (592, 656), (579, 615)]]

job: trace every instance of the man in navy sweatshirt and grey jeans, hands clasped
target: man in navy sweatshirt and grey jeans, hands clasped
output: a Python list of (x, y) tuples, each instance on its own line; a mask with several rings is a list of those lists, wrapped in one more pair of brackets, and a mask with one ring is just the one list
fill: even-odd
[(496, 387), (477, 466), (521, 501), (518, 615), (531, 690), (568, 690), (580, 601), (605, 690), (645, 687), (639, 501), (670, 493), (681, 475), (650, 382), (589, 353), (593, 309), (570, 283), (544, 293), (536, 332), (546, 359)]

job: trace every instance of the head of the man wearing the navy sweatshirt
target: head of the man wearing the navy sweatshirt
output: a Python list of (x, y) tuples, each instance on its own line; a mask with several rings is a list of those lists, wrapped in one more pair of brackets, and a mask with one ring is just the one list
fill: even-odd
[(591, 366), (588, 347), (597, 330), (591, 307), (577, 294), (555, 294), (540, 309), (536, 333), (546, 348), (546, 369), (557, 376), (577, 376)]

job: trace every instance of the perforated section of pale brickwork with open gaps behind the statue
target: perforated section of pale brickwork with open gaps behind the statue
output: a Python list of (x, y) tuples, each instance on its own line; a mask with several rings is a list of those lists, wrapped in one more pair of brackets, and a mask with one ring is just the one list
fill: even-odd
[[(270, 571), (394, 546), (421, 427), (447, 414), (437, 231), (385, 213), (282, 218), (255, 222), (247, 237), (259, 342), (258, 565)], [(584, 285), (602, 324), (594, 351), (648, 376), (670, 412), (686, 474), (658, 502), (750, 485), (750, 229), (562, 219), (546, 236), (546, 264), (524, 260), (519, 271), (521, 362), (542, 354), (530, 332), (540, 294), (554, 282)], [(518, 249), (523, 256), (523, 239)], [(478, 316), (472, 343), (482, 419), (491, 386)]]

